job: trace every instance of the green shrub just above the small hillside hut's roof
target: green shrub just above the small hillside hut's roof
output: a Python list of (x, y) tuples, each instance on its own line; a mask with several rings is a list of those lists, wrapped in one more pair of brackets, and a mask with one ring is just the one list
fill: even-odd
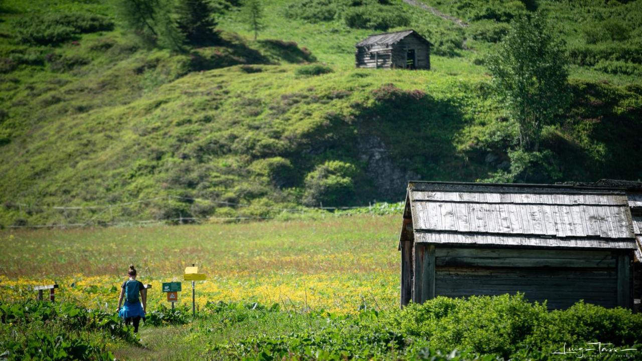
[(388, 30), (397, 26), (408, 26), (410, 17), (397, 6), (359, 6), (346, 10), (345, 24), (355, 29)]

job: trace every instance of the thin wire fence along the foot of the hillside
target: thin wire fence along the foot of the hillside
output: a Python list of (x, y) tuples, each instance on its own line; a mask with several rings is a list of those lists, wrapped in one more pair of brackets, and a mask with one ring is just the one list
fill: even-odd
[[(196, 202), (202, 202), (204, 204), (216, 205), (229, 207), (235, 211), (239, 211), (241, 215), (239, 216), (194, 216), (188, 211), (186, 216), (178, 211), (177, 215), (164, 214), (158, 207), (162, 202), (165, 203), (166, 207), (172, 205), (172, 201), (178, 201), (182, 206), (187, 204), (196, 204)], [(153, 207), (152, 204), (156, 202), (156, 207)], [(119, 202), (115, 204), (94, 204), (87, 206), (39, 206), (35, 204), (24, 204), (24, 203), (13, 203), (13, 205), (19, 208), (20, 214), (24, 215), (34, 215), (38, 213), (48, 213), (48, 216), (45, 218), (56, 218), (58, 221), (51, 222), (49, 224), (26, 224), (26, 220), (21, 218), (21, 222), (16, 222), (16, 224), (8, 225), (6, 228), (11, 229), (39, 229), (39, 228), (79, 228), (79, 227), (94, 227), (94, 226), (119, 226), (119, 225), (150, 225), (150, 224), (195, 224), (203, 222), (243, 222), (243, 221), (252, 221), (252, 220), (271, 220), (278, 218), (277, 216), (283, 213), (294, 213), (304, 215), (313, 211), (323, 210), (323, 211), (334, 211), (332, 214), (338, 215), (336, 211), (349, 211), (351, 209), (361, 209), (364, 210), (361, 213), (369, 213), (368, 210), (372, 211), (373, 209), (381, 209), (381, 207), (392, 206), (392, 209), (399, 209), (403, 207), (401, 203), (383, 203), (383, 204), (372, 204), (372, 202), (367, 206), (336, 206), (336, 207), (327, 207), (320, 204), (318, 207), (273, 207), (273, 206), (262, 206), (259, 204), (240, 204), (236, 202), (225, 202), (220, 200), (209, 200), (205, 198), (193, 198), (193, 197), (180, 197), (175, 195), (168, 195), (163, 197), (152, 197), (142, 200), (135, 200), (131, 202)], [(131, 209), (128, 207), (138, 206), (139, 209), (137, 214), (132, 214)], [(143, 219), (146, 213), (150, 213), (150, 209), (155, 211), (156, 215), (153, 218)], [(243, 209), (252, 209), (249, 213), (261, 213), (261, 215), (243, 215)], [(123, 212), (123, 210), (126, 210)], [(54, 212), (52, 214), (51, 212)], [(75, 215), (71, 215), (71, 212), (75, 212)], [(82, 213), (90, 213), (89, 215)], [(116, 213), (116, 215), (114, 215)], [(154, 212), (152, 212), (154, 213)], [(343, 213), (341, 215), (347, 215), (349, 213)], [(26, 217), (27, 218), (27, 217)]]

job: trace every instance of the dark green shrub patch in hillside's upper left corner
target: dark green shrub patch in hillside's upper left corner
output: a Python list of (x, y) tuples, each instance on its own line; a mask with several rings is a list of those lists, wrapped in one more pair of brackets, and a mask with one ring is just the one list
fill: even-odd
[(23, 44), (59, 44), (82, 33), (112, 30), (114, 22), (89, 13), (45, 13), (22, 17), (14, 23), (16, 40)]

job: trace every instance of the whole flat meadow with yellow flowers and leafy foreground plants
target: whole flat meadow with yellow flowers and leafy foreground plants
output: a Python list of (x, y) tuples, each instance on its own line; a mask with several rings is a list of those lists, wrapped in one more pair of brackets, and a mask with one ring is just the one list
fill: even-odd
[[(73, 230), (5, 230), (8, 360), (573, 360), (564, 344), (642, 348), (639, 313), (523, 294), (399, 308), (399, 215)], [(196, 317), (184, 267), (196, 263)], [(115, 313), (129, 264), (151, 284), (140, 332)], [(162, 282), (182, 281), (169, 308)], [(56, 302), (31, 286), (57, 283)], [(612, 351), (605, 360), (640, 351)], [(596, 356), (593, 351), (587, 355)]]

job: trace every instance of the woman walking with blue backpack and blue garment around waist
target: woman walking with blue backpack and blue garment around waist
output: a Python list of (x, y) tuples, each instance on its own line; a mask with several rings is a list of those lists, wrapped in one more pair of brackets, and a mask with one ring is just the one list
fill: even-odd
[[(118, 299), (118, 315), (125, 319), (125, 325), (134, 324), (134, 333), (138, 332), (141, 317), (145, 318), (147, 309), (147, 293), (141, 281), (136, 281), (136, 269), (130, 265), (127, 272), (129, 279), (121, 286), (121, 295)], [(140, 296), (140, 297), (139, 297)], [(125, 304), (123, 304), (123, 297)], [(142, 306), (141, 306), (142, 301)], [(121, 304), (123, 307), (121, 307)]]

